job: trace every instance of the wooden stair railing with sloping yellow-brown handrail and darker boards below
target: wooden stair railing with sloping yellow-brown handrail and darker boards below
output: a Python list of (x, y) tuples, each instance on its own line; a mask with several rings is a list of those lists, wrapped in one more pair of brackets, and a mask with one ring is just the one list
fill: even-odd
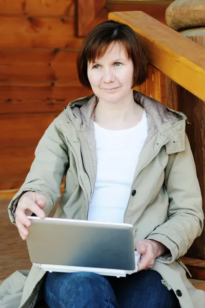
[[(190, 92), (191, 99), (180, 102), (179, 107), (180, 111), (186, 113), (188, 110), (191, 114), (189, 121), (194, 127), (194, 133), (192, 134), (189, 128), (187, 133), (191, 139), (205, 213), (205, 50), (144, 12), (112, 12), (109, 13), (108, 18), (129, 25), (148, 46), (149, 78), (145, 84), (137, 88), (138, 91), (155, 98), (172, 109), (178, 109), (178, 105), (174, 102), (173, 95), (170, 95), (172, 100), (169, 101), (169, 93), (165, 89), (166, 79), (169, 78)], [(196, 99), (198, 100), (197, 107), (195, 106)], [(188, 106), (188, 103), (192, 106)], [(191, 112), (190, 109), (192, 109)], [(184, 258), (183, 261), (190, 265), (195, 278), (205, 280), (204, 231), (205, 229), (193, 243), (191, 253), (188, 252), (188, 256), (194, 257), (194, 259)], [(190, 232), (192, 232), (191, 229)], [(199, 271), (196, 270), (196, 267), (199, 268)]]

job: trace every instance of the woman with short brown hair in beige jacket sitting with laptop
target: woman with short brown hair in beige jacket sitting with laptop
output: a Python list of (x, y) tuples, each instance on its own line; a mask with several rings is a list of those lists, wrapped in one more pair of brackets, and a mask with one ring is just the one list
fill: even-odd
[(87, 35), (77, 69), (94, 95), (72, 102), (49, 126), (9, 205), (25, 240), (26, 215), (47, 216), (66, 175), (55, 216), (132, 224), (142, 255), (138, 272), (119, 279), (45, 275), (33, 266), (20, 307), (33, 307), (41, 286), (46, 303), (55, 308), (204, 307), (204, 292), (193, 291), (177, 260), (203, 227), (187, 118), (133, 91), (147, 79), (147, 64), (145, 47), (127, 25), (108, 21)]

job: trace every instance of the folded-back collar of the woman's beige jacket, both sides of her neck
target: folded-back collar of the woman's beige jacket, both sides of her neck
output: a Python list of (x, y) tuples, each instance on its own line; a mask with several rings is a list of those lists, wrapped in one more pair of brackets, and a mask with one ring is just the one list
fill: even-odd
[[(184, 150), (186, 115), (169, 109), (140, 92), (133, 91), (133, 97), (135, 102), (140, 104), (147, 112), (147, 142), (156, 133), (159, 133), (160, 137), (169, 139), (166, 144), (168, 154)], [(98, 98), (95, 94), (92, 94), (85, 98), (77, 99), (68, 105), (68, 117), (77, 130), (84, 131), (88, 126), (93, 125), (94, 109), (97, 102)]]

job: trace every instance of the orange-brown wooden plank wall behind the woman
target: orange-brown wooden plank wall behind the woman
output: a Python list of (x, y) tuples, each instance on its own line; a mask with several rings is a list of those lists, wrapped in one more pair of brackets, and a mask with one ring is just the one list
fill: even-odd
[[(83, 40), (79, 22), (89, 16), (88, 2), (98, 7), (98, 1), (0, 0), (0, 198), (22, 185), (39, 139), (63, 106), (91, 93), (78, 82), (75, 60)], [(110, 11), (128, 10), (165, 23), (170, 3), (107, 1), (89, 27)]]

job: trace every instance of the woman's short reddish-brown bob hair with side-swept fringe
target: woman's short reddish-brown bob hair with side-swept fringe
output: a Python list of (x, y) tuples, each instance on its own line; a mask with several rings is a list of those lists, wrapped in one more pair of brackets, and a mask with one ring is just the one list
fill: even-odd
[(148, 53), (144, 42), (126, 24), (106, 21), (85, 37), (77, 56), (78, 78), (82, 85), (91, 89), (88, 80), (88, 62), (101, 59), (111, 43), (123, 44), (134, 65), (134, 82), (132, 88), (139, 86), (148, 78)]

